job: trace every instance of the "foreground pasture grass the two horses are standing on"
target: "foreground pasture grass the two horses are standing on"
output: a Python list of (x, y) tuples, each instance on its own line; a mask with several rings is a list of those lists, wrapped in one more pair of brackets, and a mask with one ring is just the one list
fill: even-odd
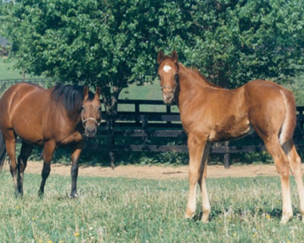
[[(183, 219), (186, 180), (79, 178), (70, 199), (70, 178), (51, 175), (43, 199), (39, 175), (25, 175), (23, 198), (13, 194), (8, 173), (0, 176), (1, 242), (302, 242), (292, 180), (294, 218), (281, 225), (277, 177), (208, 179), (211, 221)], [(200, 196), (199, 196), (200, 198)], [(229, 213), (226, 213), (229, 212)], [(40, 241), (41, 240), (41, 241)]]

